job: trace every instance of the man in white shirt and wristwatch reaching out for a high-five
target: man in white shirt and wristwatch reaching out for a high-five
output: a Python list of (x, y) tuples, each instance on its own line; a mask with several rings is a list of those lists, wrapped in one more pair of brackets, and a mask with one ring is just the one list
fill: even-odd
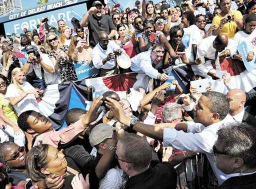
[(205, 153), (218, 179), (218, 184), (230, 177), (216, 168), (212, 151), (212, 146), (217, 139), (217, 130), (223, 123), (233, 121), (226, 118), (229, 102), (222, 93), (215, 91), (203, 93), (195, 107), (194, 122), (170, 123), (169, 128), (147, 125), (129, 118), (124, 115), (117, 101), (106, 99), (109, 101), (106, 101), (106, 104), (121, 123), (146, 136), (163, 140), (164, 146)]

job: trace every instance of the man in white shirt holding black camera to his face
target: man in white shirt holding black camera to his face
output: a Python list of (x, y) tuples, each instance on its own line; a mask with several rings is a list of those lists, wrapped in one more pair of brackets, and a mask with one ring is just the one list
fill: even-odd
[[(59, 73), (55, 71), (47, 54), (39, 53), (36, 46), (26, 47), (27, 61), (23, 69), (27, 79), (37, 88), (45, 88), (47, 84), (60, 83)], [(43, 80), (45, 82), (43, 82)]]

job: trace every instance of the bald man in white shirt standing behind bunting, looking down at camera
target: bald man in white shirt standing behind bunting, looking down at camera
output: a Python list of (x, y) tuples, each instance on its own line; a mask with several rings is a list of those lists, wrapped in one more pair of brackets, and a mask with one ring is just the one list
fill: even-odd
[(108, 40), (108, 35), (105, 31), (99, 31), (97, 39), (98, 43), (91, 53), (94, 67), (99, 69), (100, 76), (117, 74), (118, 67), (116, 67), (113, 52), (120, 50), (120, 46), (114, 41)]

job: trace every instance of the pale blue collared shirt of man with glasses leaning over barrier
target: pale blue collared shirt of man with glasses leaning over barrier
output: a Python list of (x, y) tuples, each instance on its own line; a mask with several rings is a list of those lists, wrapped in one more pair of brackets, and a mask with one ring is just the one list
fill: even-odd
[(152, 59), (151, 59), (151, 50), (141, 52), (131, 58), (131, 66), (130, 69), (135, 72), (142, 72), (147, 74), (151, 78), (157, 78), (159, 68), (162, 65), (162, 61), (160, 61), (155, 68), (152, 66)]

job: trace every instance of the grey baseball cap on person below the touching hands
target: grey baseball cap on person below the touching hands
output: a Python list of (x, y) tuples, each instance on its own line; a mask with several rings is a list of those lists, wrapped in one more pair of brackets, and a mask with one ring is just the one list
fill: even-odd
[(113, 127), (106, 123), (100, 123), (94, 126), (89, 135), (89, 142), (91, 146), (95, 146), (106, 138), (112, 138)]

